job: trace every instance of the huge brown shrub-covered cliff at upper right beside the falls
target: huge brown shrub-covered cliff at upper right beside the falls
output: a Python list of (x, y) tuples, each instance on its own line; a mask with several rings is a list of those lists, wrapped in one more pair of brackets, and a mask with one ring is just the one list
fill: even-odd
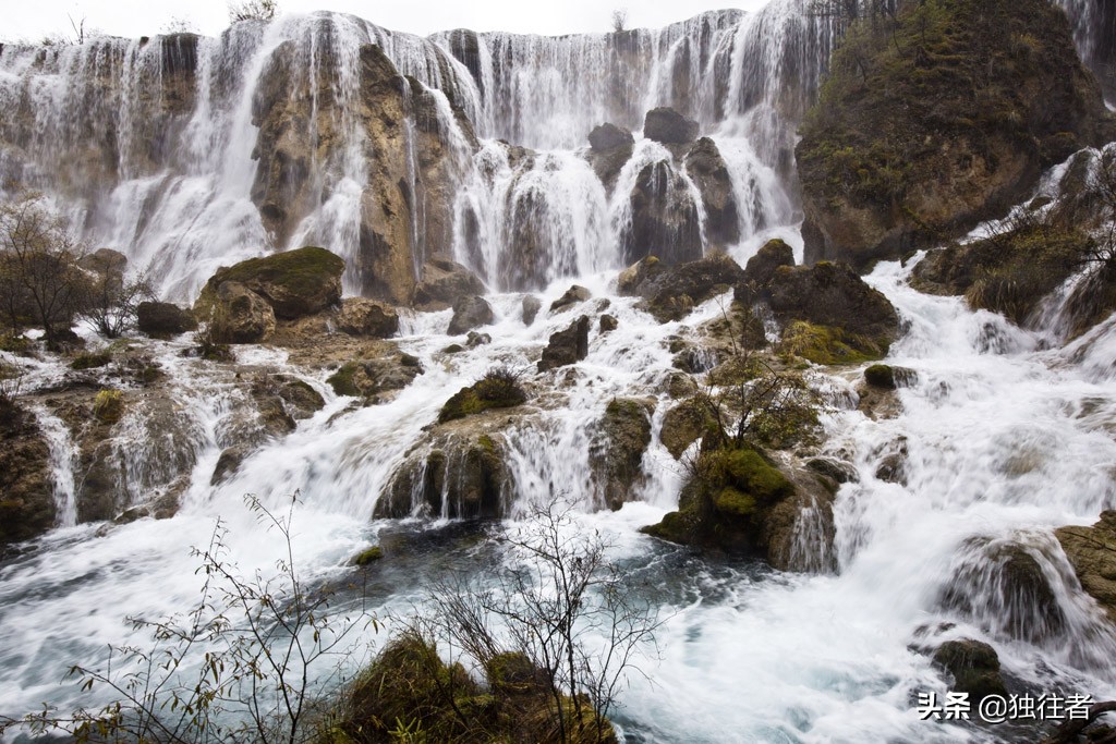
[(1061, 10), (906, 2), (849, 30), (802, 125), (806, 259), (863, 268), (964, 234), (1112, 133)]

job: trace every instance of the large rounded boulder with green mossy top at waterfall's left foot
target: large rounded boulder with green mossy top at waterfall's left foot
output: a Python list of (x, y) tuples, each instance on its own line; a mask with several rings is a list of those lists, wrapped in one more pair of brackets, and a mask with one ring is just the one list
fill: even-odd
[(276, 318), (294, 320), (321, 312), (341, 299), (345, 260), (324, 248), (300, 248), (219, 269), (205, 283), (195, 310), (208, 315), (214, 293), (237, 282), (271, 306)]

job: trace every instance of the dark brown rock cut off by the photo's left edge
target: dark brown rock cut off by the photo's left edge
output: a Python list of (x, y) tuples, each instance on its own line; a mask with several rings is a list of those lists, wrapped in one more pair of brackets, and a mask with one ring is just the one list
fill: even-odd
[(0, 402), (0, 547), (37, 538), (55, 518), (50, 447), (33, 414)]

